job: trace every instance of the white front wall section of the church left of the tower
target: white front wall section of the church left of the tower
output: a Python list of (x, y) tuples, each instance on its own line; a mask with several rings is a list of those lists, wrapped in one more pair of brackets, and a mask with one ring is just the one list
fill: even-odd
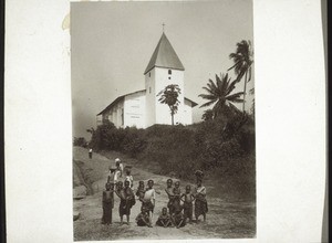
[(145, 128), (145, 92), (125, 96), (124, 127)]

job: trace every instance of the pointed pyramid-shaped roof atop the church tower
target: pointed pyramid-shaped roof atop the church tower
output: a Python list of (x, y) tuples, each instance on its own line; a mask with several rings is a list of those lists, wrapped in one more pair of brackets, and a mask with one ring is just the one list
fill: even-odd
[(181, 61), (178, 59), (165, 33), (162, 34), (162, 38), (145, 68), (144, 74), (149, 72), (155, 66), (181, 71), (185, 70)]

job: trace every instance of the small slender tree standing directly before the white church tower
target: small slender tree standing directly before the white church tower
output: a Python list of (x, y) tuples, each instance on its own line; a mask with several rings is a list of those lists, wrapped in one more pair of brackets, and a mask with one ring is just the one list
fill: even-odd
[(168, 105), (172, 116), (172, 125), (174, 125), (174, 115), (177, 113), (179, 101), (178, 95), (180, 94), (180, 88), (177, 84), (169, 84), (163, 91), (160, 91), (157, 96), (160, 96), (158, 102)]

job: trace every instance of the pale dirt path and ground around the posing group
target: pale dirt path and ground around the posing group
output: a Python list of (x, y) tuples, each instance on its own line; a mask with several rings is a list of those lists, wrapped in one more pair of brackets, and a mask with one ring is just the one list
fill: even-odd
[[(94, 154), (93, 159), (87, 158), (87, 150), (83, 148), (74, 148), (74, 159), (84, 163), (89, 163), (97, 173), (102, 173), (102, 179), (93, 183), (95, 193), (87, 196), (82, 200), (74, 200), (74, 210), (81, 213), (77, 221), (74, 221), (74, 240), (138, 240), (138, 239), (200, 239), (200, 237), (253, 237), (256, 232), (256, 205), (252, 202), (226, 202), (220, 198), (214, 198), (207, 194), (209, 212), (207, 222), (198, 224), (187, 224), (185, 228), (141, 228), (135, 224), (135, 218), (139, 213), (141, 203), (132, 208), (131, 224), (120, 225), (118, 204), (120, 199), (115, 196), (113, 209), (113, 224), (101, 224), (102, 218), (102, 191), (107, 177), (107, 168), (114, 163), (114, 159), (110, 160), (101, 155)], [(139, 168), (139, 162), (134, 165), (132, 175), (134, 177), (134, 189), (136, 190), (138, 180), (148, 179), (155, 181), (154, 188), (159, 193), (156, 198), (156, 208), (153, 222), (155, 222), (163, 207), (167, 204), (167, 196), (164, 192), (167, 177), (151, 173)], [(187, 184), (181, 181), (181, 188)], [(183, 189), (184, 190), (184, 189)], [(207, 188), (208, 191), (208, 188)]]

